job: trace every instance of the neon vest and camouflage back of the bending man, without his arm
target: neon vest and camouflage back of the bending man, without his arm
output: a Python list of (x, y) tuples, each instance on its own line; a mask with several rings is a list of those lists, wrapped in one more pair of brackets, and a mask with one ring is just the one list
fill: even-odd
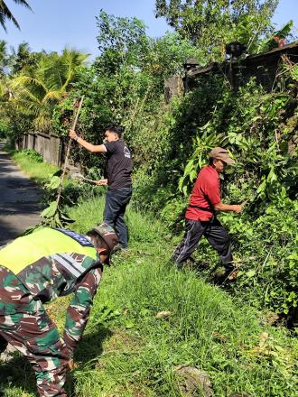
[(44, 227), (0, 250), (0, 265), (14, 272), (35, 299), (48, 302), (75, 291), (81, 276), (100, 260), (84, 235)]

